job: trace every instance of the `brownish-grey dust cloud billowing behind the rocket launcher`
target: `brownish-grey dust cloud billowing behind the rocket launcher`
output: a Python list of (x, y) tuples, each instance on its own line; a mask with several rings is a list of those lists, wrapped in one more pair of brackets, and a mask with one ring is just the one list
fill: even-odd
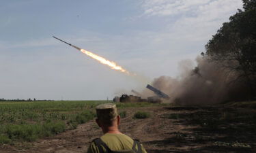
[[(193, 61), (179, 63), (177, 78), (160, 76), (152, 86), (171, 97), (171, 103), (180, 105), (208, 105), (225, 101), (240, 101), (248, 97), (248, 88), (243, 82), (234, 81), (237, 73), (224, 69), (221, 63), (214, 63), (207, 56), (197, 56)], [(152, 92), (143, 91), (144, 96)]]

